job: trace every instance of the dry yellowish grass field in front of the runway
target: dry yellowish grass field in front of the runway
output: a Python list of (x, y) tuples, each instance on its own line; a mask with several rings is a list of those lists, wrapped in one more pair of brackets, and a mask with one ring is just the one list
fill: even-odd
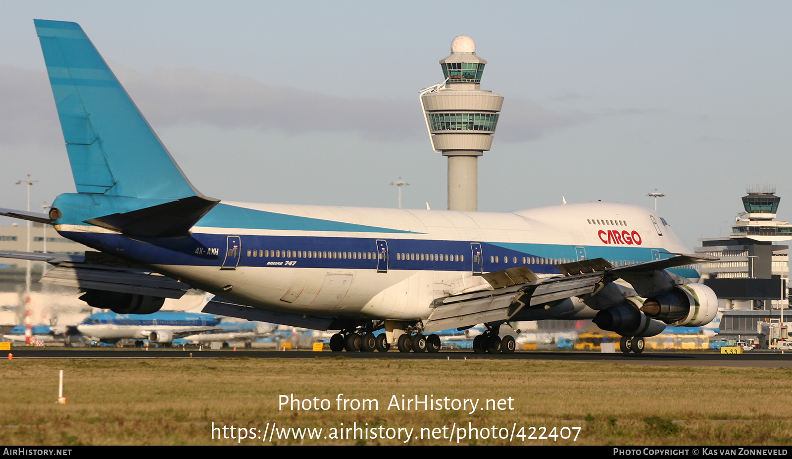
[[(65, 405), (55, 404), (59, 369)], [(411, 428), (413, 445), (792, 443), (788, 368), (343, 357), (17, 358), (0, 361), (0, 383), (3, 445), (388, 445), (405, 442)], [(342, 400), (377, 400), (379, 406), (354, 411), (348, 402), (347, 410), (338, 410), (340, 393)], [(326, 399), (329, 409), (279, 410), (279, 396), (290, 394)], [(391, 397), (401, 403), (402, 395), (413, 403), (415, 396), (440, 399), (450, 409), (388, 409)], [(470, 404), (452, 409), (454, 399), (478, 405), (469, 414)], [(488, 399), (490, 409), (479, 409)], [(504, 410), (497, 409), (499, 400)], [(228, 438), (219, 438), (223, 426)], [(239, 427), (246, 436), (266, 438), (240, 440)], [(295, 439), (287, 430), (290, 438), (278, 438), (284, 436), (280, 429), (291, 427), (321, 427), (322, 433)], [(355, 427), (360, 429), (345, 431)], [(538, 438), (542, 434), (555, 437)]]

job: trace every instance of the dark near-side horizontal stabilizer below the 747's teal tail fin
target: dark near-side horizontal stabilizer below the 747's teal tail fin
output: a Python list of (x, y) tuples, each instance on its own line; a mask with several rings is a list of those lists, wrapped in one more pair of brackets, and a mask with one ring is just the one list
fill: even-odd
[(203, 218), (219, 200), (191, 196), (131, 212), (114, 213), (87, 220), (102, 228), (148, 238), (180, 237)]

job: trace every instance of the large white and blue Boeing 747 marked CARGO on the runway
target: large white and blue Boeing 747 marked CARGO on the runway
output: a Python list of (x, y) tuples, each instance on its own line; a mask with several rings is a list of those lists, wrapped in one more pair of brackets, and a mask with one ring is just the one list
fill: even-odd
[[(433, 331), (484, 324), (477, 352), (512, 353), (505, 324), (593, 319), (640, 352), (666, 324), (700, 327), (713, 291), (649, 208), (593, 202), (506, 213), (220, 201), (189, 182), (79, 25), (36, 20), (78, 193), (48, 214), (96, 249), (6, 252), (55, 266), (42, 279), (119, 313), (158, 311), (192, 287), (204, 312), (338, 330), (339, 351), (437, 352)], [(385, 333), (375, 335), (375, 331)], [(512, 332), (513, 333), (513, 332)]]

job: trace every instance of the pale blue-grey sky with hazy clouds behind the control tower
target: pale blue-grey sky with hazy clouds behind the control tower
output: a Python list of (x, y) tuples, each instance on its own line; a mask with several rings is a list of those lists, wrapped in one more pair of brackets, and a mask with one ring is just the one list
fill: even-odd
[[(74, 193), (34, 18), (74, 21), (224, 201), (444, 209), (418, 101), (466, 34), (505, 97), (478, 209), (658, 208), (691, 247), (746, 186), (792, 220), (792, 2), (0, 1), (0, 207)], [(2, 219), (0, 225), (11, 224)]]

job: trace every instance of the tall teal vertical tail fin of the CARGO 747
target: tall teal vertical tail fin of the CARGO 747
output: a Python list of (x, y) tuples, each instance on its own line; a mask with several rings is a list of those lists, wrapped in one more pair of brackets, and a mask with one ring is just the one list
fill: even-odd
[(35, 20), (78, 193), (203, 197), (74, 22)]

